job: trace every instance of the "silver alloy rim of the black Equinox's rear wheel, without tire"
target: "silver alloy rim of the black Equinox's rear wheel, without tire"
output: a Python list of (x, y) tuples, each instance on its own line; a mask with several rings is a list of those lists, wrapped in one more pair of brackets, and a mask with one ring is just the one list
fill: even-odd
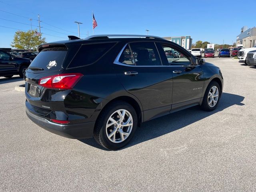
[(123, 142), (132, 132), (133, 119), (128, 110), (116, 110), (108, 118), (106, 124), (106, 135), (113, 143)]

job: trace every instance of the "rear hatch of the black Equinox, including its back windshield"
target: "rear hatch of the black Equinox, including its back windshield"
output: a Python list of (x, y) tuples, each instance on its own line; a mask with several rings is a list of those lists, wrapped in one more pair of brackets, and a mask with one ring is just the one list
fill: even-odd
[[(70, 46), (72, 46), (72, 49)], [(64, 97), (70, 90), (48, 89), (40, 86), (39, 80), (62, 74), (79, 47), (78, 44), (44, 44), (39, 47), (39, 54), (27, 68), (24, 75), (27, 110), (39, 116), (48, 116), (50, 119), (52, 110), (60, 111), (61, 108), (64, 108), (60, 95)]]

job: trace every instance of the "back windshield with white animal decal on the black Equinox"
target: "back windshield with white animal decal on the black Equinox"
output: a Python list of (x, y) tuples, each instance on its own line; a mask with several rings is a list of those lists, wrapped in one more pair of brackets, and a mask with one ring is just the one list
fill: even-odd
[(45, 48), (34, 58), (29, 68), (43, 68), (41, 72), (59, 70), (67, 52), (67, 48), (64, 47)]

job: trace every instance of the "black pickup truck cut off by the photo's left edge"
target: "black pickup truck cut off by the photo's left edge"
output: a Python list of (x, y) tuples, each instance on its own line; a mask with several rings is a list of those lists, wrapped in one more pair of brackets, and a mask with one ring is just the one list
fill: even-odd
[(31, 62), (30, 59), (14, 57), (8, 52), (0, 50), (0, 76), (11, 78), (14, 75), (20, 75), (23, 77)]

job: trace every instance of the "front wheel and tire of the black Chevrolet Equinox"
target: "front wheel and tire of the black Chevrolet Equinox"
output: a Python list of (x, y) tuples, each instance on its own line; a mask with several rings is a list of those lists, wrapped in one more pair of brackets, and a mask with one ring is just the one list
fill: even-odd
[[(215, 92), (213, 92), (214, 88), (215, 88)], [(204, 98), (201, 105), (202, 110), (205, 110), (205, 111), (214, 110), (219, 103), (220, 95), (221, 95), (220, 85), (216, 81), (210, 82), (210, 84), (208, 85), (204, 93)]]

